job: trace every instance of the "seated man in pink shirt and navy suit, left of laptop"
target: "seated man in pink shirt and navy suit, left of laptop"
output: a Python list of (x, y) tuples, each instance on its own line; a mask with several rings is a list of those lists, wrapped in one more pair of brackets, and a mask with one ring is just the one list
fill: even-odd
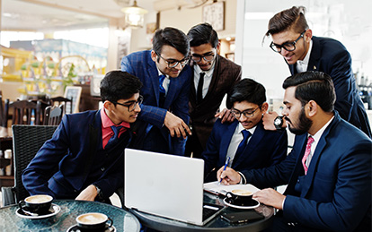
[(141, 111), (142, 83), (121, 71), (101, 82), (100, 110), (66, 115), (22, 173), (26, 190), (55, 199), (109, 202), (124, 182), (123, 150)]

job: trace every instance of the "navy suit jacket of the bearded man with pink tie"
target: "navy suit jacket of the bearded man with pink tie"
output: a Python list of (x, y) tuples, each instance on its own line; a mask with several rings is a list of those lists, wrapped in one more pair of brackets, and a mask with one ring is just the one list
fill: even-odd
[(304, 176), (306, 141), (307, 134), (297, 135), (279, 165), (244, 171), (247, 183), (260, 188), (288, 184), (283, 207), (288, 221), (324, 230), (370, 231), (371, 140), (336, 112)]

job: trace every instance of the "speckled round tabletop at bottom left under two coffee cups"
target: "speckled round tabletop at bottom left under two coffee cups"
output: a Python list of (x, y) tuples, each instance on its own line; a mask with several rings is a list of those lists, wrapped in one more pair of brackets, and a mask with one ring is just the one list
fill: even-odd
[(137, 218), (111, 204), (74, 200), (54, 200), (60, 207), (55, 216), (46, 219), (24, 219), (16, 215), (18, 205), (0, 208), (0, 231), (66, 231), (76, 224), (75, 218), (86, 212), (101, 212), (113, 220), (116, 231), (139, 231)]

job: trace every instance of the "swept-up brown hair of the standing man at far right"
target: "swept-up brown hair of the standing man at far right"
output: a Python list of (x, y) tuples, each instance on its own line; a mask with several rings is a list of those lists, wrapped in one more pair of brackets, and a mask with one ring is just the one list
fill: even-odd
[(289, 29), (302, 33), (309, 29), (305, 17), (304, 6), (293, 6), (287, 10), (276, 13), (269, 21), (266, 36), (277, 34)]

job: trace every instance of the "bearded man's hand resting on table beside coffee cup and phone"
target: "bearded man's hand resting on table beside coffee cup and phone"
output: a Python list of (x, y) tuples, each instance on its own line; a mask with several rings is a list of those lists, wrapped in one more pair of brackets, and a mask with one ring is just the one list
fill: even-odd
[(257, 201), (270, 205), (278, 210), (283, 210), (283, 202), (286, 199), (286, 196), (272, 188), (265, 188), (261, 191), (253, 193), (252, 198), (257, 199)]

